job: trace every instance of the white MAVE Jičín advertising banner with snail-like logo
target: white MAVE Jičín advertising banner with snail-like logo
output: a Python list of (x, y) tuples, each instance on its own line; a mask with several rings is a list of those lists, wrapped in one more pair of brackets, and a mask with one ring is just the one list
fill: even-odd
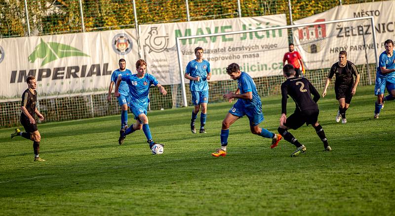
[[(156, 76), (161, 84), (179, 84), (176, 37), (285, 25), (285, 14), (140, 25), (140, 44), (148, 64), (147, 71)], [(281, 74), (282, 57), (288, 50), (287, 30), (182, 40), (183, 70), (189, 61), (196, 59), (196, 47), (203, 48), (203, 59), (210, 62), (212, 81), (230, 79), (225, 68), (233, 62), (252, 77), (278, 75)]]

